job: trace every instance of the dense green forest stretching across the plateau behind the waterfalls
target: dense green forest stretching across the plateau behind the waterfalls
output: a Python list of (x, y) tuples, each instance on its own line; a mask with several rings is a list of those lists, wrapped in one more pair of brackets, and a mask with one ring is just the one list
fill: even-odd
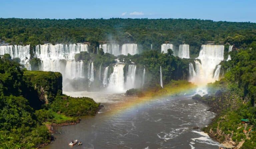
[(159, 50), (170, 41), (189, 44), (191, 54), (199, 53), (207, 41), (241, 45), (256, 41), (256, 23), (214, 22), (200, 19), (3, 19), (0, 39), (12, 44), (136, 42), (140, 49)]

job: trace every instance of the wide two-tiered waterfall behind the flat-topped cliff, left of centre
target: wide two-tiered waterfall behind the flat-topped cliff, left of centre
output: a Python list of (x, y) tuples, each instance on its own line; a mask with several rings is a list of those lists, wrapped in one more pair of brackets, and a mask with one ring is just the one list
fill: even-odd
[(86, 44), (44, 44), (37, 45), (35, 57), (41, 60), (41, 71), (60, 72), (63, 75), (63, 89), (68, 89), (71, 79), (83, 78), (84, 62), (75, 62), (75, 54), (88, 51)]

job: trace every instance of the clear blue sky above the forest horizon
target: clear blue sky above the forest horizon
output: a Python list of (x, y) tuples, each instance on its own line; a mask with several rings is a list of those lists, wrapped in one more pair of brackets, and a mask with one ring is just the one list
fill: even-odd
[(0, 18), (112, 17), (256, 22), (256, 0), (0, 0)]

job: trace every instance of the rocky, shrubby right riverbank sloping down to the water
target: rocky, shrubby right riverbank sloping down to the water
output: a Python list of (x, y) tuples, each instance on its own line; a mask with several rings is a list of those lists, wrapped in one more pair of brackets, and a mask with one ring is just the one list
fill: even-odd
[[(256, 146), (256, 137), (253, 125), (254, 107), (250, 105), (249, 100), (243, 99), (235, 91), (231, 91), (227, 82), (218, 81), (209, 84), (210, 94), (193, 96), (193, 99), (199, 100), (208, 106), (209, 111), (216, 113), (211, 123), (202, 130), (217, 140), (219, 143), (227, 142), (240, 149), (250, 149)], [(220, 85), (218, 86), (218, 85)], [(211, 88), (216, 85), (215, 89)], [(243, 122), (241, 119), (248, 119), (249, 122)]]

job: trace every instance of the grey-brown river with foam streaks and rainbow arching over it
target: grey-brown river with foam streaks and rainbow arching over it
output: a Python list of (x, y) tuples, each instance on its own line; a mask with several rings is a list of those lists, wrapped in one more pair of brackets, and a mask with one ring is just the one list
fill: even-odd
[(191, 96), (162, 97), (137, 101), (122, 94), (99, 92), (64, 92), (74, 97), (88, 96), (104, 108), (95, 116), (83, 117), (80, 123), (55, 126), (56, 140), (45, 149), (218, 149), (218, 142), (200, 129), (215, 116), (209, 107)]

